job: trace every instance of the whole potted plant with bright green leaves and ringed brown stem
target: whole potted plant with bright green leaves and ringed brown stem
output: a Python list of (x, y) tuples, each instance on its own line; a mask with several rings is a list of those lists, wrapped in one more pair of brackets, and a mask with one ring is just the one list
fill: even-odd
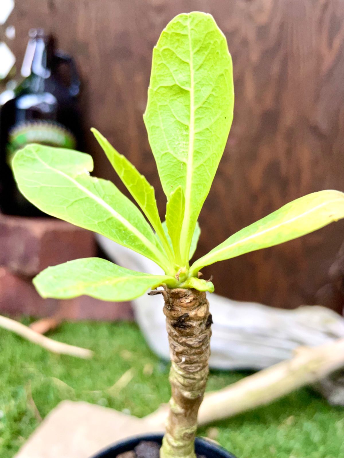
[(159, 292), (165, 299), (172, 397), (161, 457), (194, 457), (197, 412), (210, 353), (211, 315), (205, 292), (214, 290), (210, 281), (199, 278), (200, 269), (344, 217), (343, 193), (316, 192), (231, 235), (189, 265), (200, 234), (197, 218), (227, 141), (233, 102), (232, 60), (212, 16), (193, 12), (175, 17), (153, 51), (144, 114), (167, 197), (164, 223), (153, 187), (95, 129), (94, 135), (142, 213), (113, 183), (89, 175), (93, 161), (88, 154), (30, 145), (13, 159), (20, 191), (41, 210), (137, 251), (165, 272), (149, 275), (88, 258), (49, 267), (33, 280), (39, 294), (57, 299), (88, 294), (103, 300), (131, 300), (149, 288), (163, 287)]

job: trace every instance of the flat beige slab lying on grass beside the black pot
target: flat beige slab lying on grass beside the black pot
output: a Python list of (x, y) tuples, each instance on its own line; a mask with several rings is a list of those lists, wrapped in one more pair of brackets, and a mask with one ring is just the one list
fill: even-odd
[(130, 436), (157, 432), (142, 419), (83, 401), (63, 401), (14, 458), (91, 458)]

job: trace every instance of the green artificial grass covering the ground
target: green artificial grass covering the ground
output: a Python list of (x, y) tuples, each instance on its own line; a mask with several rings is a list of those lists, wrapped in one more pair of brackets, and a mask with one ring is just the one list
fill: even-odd
[[(169, 366), (152, 354), (135, 324), (65, 323), (50, 337), (93, 349), (95, 356), (80, 360), (51, 354), (0, 329), (1, 458), (11, 458), (39, 424), (34, 404), (42, 417), (63, 399), (82, 399), (142, 417), (168, 401)], [(105, 391), (130, 368), (133, 378), (126, 386)], [(242, 376), (212, 372), (208, 390)], [(340, 458), (343, 414), (344, 409), (302, 389), (211, 429), (201, 428), (200, 435), (215, 435), (238, 458)]]

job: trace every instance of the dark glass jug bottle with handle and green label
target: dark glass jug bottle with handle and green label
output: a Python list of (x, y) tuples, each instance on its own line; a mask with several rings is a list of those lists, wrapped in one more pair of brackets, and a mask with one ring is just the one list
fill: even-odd
[(42, 216), (17, 190), (11, 160), (29, 143), (82, 148), (80, 82), (72, 58), (56, 51), (54, 40), (41, 29), (29, 32), (22, 76), (17, 87), (0, 95), (0, 210)]

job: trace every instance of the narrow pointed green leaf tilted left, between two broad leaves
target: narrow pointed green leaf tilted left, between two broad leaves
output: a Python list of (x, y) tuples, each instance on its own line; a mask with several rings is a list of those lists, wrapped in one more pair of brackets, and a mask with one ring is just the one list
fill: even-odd
[(144, 175), (141, 175), (125, 156), (117, 152), (117, 150), (103, 135), (101, 135), (99, 131), (93, 127), (91, 131), (100, 146), (103, 148), (117, 175), (120, 177), (123, 184), (126, 186), (143, 213), (146, 215), (150, 224), (155, 229), (155, 232), (159, 236), (167, 255), (172, 255), (170, 245), (167, 242), (164, 229), (161, 225), (153, 186), (148, 183)]

